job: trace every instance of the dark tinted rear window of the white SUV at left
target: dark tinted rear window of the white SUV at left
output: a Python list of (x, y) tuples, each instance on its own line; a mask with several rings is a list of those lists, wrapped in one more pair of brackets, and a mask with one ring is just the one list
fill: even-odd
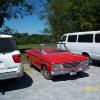
[(0, 38), (0, 52), (12, 52), (16, 50), (16, 44), (11, 38)]

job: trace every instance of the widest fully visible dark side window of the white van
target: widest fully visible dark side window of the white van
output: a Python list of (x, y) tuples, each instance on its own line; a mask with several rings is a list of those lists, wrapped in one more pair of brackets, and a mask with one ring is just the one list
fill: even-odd
[(79, 35), (78, 42), (93, 42), (93, 34)]

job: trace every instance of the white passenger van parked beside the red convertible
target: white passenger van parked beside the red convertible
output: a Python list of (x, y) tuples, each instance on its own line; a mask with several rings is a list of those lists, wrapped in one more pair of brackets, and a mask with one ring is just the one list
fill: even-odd
[(57, 44), (61, 49), (64, 45), (71, 52), (100, 61), (100, 31), (66, 33)]

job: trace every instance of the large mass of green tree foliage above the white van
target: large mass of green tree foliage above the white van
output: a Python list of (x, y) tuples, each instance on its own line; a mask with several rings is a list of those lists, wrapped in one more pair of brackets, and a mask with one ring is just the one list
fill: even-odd
[(42, 15), (57, 40), (66, 32), (100, 29), (100, 0), (45, 1)]

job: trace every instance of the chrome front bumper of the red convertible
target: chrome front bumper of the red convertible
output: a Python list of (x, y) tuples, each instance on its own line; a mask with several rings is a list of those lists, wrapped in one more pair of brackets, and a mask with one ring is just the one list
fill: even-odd
[(89, 66), (85, 66), (85, 67), (75, 67), (73, 69), (61, 69), (59, 71), (51, 71), (51, 75), (55, 76), (55, 75), (64, 75), (64, 74), (70, 74), (71, 72), (81, 72), (81, 71), (86, 71), (89, 69)]

